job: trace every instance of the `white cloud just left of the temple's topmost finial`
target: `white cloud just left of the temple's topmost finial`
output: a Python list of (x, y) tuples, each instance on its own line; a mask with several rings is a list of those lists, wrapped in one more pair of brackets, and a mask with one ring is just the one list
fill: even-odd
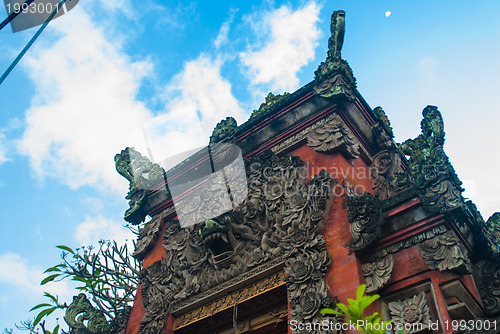
[(319, 10), (316, 2), (310, 2), (296, 11), (282, 6), (267, 12), (262, 22), (257, 15), (249, 19), (259, 20), (252, 28), (259, 41), (265, 41), (240, 54), (252, 84), (268, 84), (277, 92), (299, 87), (297, 72), (314, 59), (314, 49), (318, 46)]

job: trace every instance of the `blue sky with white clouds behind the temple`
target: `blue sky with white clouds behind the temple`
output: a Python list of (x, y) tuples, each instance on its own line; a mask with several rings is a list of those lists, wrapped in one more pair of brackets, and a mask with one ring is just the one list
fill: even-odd
[[(343, 58), (396, 140), (437, 105), (465, 196), (485, 218), (499, 210), (500, 2), (81, 0), (0, 86), (0, 329), (28, 318), (44, 288), (74, 294), (38, 285), (55, 245), (128, 237), (113, 157), (140, 125), (167, 120), (173, 154), (227, 116), (241, 124), (269, 91), (314, 78), (336, 9)], [(34, 32), (0, 31), (2, 72)]]

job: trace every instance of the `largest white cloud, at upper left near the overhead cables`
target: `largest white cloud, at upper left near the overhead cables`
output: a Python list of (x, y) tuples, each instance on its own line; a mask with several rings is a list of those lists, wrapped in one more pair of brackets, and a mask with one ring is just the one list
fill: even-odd
[(152, 117), (135, 99), (151, 65), (129, 59), (83, 10), (70, 14), (54, 25), (62, 37), (49, 47), (38, 45), (24, 61), (37, 94), (19, 149), (41, 179), (123, 192), (126, 182), (113, 157)]

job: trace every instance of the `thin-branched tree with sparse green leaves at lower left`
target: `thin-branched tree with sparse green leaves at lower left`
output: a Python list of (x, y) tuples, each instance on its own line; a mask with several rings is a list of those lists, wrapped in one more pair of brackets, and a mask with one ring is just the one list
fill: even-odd
[[(62, 250), (62, 261), (45, 270), (46, 276), (40, 285), (65, 279), (76, 282), (76, 289), (84, 292), (92, 306), (108, 321), (130, 307), (139, 281), (140, 262), (131, 256), (126, 244), (118, 246), (115, 241), (100, 241), (97, 248), (56, 247)], [(38, 312), (34, 320), (16, 324), (16, 328), (30, 334), (69, 334), (59, 324), (52, 330), (45, 328), (45, 321), (54, 315), (54, 311), (65, 310), (68, 304), (48, 292), (44, 292), (44, 297), (48, 299), (46, 302), (30, 310)], [(3, 333), (12, 334), (13, 330), (4, 329)]]

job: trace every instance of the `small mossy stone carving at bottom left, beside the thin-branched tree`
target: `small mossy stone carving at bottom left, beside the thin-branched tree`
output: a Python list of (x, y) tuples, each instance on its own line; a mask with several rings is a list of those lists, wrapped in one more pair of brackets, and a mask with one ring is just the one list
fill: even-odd
[(111, 333), (104, 315), (90, 304), (83, 293), (73, 297), (73, 302), (66, 309), (64, 321), (75, 334)]

